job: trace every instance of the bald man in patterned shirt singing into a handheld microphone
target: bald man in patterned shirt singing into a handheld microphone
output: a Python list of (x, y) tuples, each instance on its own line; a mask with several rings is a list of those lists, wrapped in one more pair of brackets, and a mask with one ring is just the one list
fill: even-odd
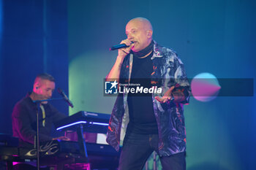
[[(143, 169), (153, 151), (159, 155), (162, 169), (185, 170), (183, 104), (189, 103), (191, 92), (184, 65), (173, 50), (153, 40), (153, 28), (146, 18), (129, 20), (126, 34), (127, 39), (120, 44), (128, 47), (118, 50), (116, 63), (106, 80), (124, 79), (152, 87), (151, 80), (158, 79), (163, 92), (151, 96), (118, 95), (110, 117), (107, 142), (118, 150), (121, 127), (127, 127), (119, 170)], [(176, 87), (180, 90), (175, 90)], [(129, 117), (127, 126), (121, 125), (122, 120), (127, 120), (123, 117)]]

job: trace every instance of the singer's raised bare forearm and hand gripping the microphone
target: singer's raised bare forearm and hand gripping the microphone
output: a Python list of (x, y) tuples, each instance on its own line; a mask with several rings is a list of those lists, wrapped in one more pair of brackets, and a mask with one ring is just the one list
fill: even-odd
[(120, 44), (125, 44), (129, 47), (127, 48), (121, 48), (118, 50), (118, 56), (116, 58), (116, 62), (113, 65), (112, 69), (108, 73), (106, 77), (106, 81), (113, 81), (114, 79), (118, 80), (120, 77), (120, 72), (121, 72), (121, 65), (124, 61), (124, 58), (129, 54), (129, 51), (132, 48), (132, 42), (129, 41), (129, 39), (124, 39), (121, 41)]

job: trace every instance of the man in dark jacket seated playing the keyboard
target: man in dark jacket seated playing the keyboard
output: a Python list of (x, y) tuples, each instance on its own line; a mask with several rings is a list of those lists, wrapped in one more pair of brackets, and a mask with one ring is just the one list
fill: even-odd
[[(28, 93), (15, 104), (12, 112), (13, 136), (18, 137), (20, 147), (33, 147), (34, 136), (36, 135), (36, 112), (37, 104), (34, 100), (45, 100), (52, 96), (55, 89), (55, 80), (50, 74), (38, 74), (34, 80), (32, 93)], [(39, 112), (39, 140), (48, 141), (53, 139), (69, 140), (60, 136), (53, 138), (50, 136), (53, 123), (66, 117), (47, 101), (40, 104)]]

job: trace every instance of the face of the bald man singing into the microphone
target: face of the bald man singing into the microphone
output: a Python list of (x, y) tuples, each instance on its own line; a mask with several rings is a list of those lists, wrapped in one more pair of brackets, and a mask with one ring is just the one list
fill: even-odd
[(127, 39), (134, 42), (134, 46), (132, 47), (132, 51), (134, 52), (143, 50), (151, 42), (151, 39), (149, 39), (147, 35), (147, 31), (143, 27), (143, 22), (130, 21), (127, 23), (125, 33), (127, 34)]

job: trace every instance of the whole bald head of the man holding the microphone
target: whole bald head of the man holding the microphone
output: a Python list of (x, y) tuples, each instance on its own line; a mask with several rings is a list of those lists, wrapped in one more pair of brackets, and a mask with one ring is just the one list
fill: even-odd
[(138, 52), (146, 48), (152, 41), (153, 28), (146, 18), (133, 18), (126, 26), (127, 39), (134, 42), (132, 51)]

